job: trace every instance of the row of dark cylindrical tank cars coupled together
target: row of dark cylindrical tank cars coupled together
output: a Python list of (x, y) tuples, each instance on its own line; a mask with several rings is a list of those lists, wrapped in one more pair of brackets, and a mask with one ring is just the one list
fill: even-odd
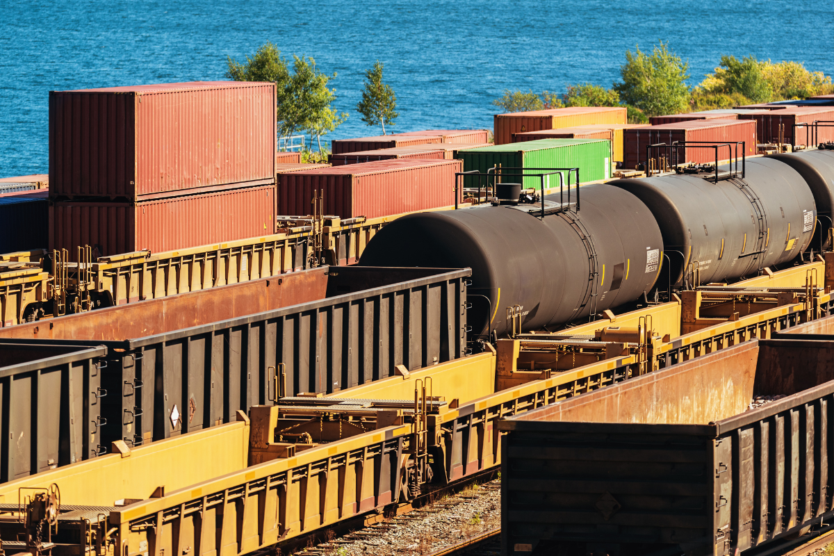
[(360, 264), (472, 268), (467, 321), (486, 339), (510, 323), (555, 327), (661, 289), (725, 283), (830, 243), (831, 151), (700, 169), (584, 186), (573, 203), (411, 214), (381, 230)]

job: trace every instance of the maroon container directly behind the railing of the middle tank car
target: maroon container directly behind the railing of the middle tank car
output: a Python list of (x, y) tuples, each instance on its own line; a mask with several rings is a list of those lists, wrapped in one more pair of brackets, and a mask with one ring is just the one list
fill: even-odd
[[(646, 147), (656, 143), (671, 145), (676, 141), (710, 141), (714, 143), (736, 143), (744, 141), (746, 156), (757, 153), (756, 125), (751, 120), (688, 120), (686, 122), (664, 123), (659, 126), (646, 128), (631, 128), (623, 130), (623, 168), (636, 168), (638, 163), (646, 162)], [(718, 159), (731, 158), (730, 151), (719, 148)], [(738, 157), (741, 158), (741, 145), (738, 146)], [(652, 158), (658, 156), (671, 157), (668, 150), (654, 149)], [(678, 163), (712, 163), (716, 160), (716, 152), (712, 148), (679, 148), (677, 150)], [(736, 156), (736, 148), (732, 148), (732, 157)], [(670, 163), (675, 162), (672, 158)]]

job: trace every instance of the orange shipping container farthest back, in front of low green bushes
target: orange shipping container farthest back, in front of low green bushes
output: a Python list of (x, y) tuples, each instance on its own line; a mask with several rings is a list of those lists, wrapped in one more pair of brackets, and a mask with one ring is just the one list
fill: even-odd
[(513, 133), (595, 123), (626, 123), (626, 110), (620, 107), (574, 107), (495, 114), (495, 144), (512, 143)]

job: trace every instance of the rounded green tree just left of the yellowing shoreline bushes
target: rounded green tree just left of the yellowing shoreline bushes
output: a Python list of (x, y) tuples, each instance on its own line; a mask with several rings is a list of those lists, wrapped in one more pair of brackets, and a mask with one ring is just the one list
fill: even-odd
[(625, 52), (622, 83), (614, 83), (614, 90), (625, 104), (649, 116), (684, 112), (689, 102), (688, 70), (689, 63), (670, 52), (668, 43), (661, 41), (651, 55), (637, 47), (635, 53)]

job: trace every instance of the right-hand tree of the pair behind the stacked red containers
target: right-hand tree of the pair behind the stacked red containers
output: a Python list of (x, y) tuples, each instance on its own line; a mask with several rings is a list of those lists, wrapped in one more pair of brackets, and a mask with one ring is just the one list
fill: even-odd
[(336, 99), (336, 89), (328, 88), (330, 79), (336, 77), (321, 73), (313, 58), (294, 56), (294, 74), (289, 83), (288, 112), (291, 120), (298, 129), (304, 129), (319, 144), (321, 152), (321, 136), (334, 131), (348, 118), (346, 113), (338, 113), (331, 108)]

